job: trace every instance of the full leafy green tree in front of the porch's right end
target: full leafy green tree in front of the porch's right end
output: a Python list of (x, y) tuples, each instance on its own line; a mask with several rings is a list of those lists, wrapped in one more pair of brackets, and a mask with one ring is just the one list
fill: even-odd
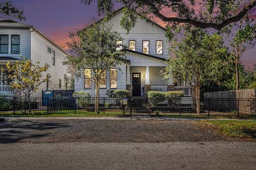
[(211, 36), (199, 28), (184, 31), (184, 37), (180, 41), (172, 41), (171, 51), (176, 58), (169, 58), (163, 75), (164, 79), (169, 80), (172, 72), (174, 81), (182, 79), (195, 84), (196, 108), (200, 114), (202, 80), (207, 78), (217, 81), (219, 76), (226, 73), (225, 58), (228, 53), (220, 35)]

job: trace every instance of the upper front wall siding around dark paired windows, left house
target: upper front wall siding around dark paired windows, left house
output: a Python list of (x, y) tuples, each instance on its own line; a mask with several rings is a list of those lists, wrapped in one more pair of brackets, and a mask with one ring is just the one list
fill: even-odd
[[(0, 57), (30, 58), (30, 30), (29, 28), (0, 27), (0, 35), (9, 35), (9, 54), (0, 54)], [(11, 35), (20, 35), (20, 54), (11, 54)]]

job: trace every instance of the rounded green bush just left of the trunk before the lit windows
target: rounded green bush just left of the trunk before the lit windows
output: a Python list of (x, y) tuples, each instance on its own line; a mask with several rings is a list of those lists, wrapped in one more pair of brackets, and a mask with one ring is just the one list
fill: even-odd
[(89, 91), (76, 91), (74, 92), (73, 96), (77, 97), (77, 103), (79, 107), (85, 108), (85, 109), (89, 107), (90, 97), (91, 97), (91, 94), (89, 93)]

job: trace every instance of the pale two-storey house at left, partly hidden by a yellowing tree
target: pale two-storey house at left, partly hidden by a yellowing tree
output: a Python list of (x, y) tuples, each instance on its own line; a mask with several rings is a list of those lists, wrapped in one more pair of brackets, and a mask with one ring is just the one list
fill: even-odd
[[(54, 41), (45, 36), (32, 25), (12, 20), (0, 21), (0, 67), (6, 63), (15, 64), (21, 56), (32, 62), (39, 61), (41, 66), (50, 65), (47, 73), (51, 74), (50, 81), (43, 83), (34, 97), (42, 97), (42, 90), (66, 89), (67, 66), (62, 62), (68, 54)], [(0, 72), (0, 94), (13, 95), (7, 76)]]

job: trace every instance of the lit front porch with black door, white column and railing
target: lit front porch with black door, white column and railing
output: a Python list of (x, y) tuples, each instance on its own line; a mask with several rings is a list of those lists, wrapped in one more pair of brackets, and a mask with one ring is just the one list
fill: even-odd
[(126, 89), (133, 97), (145, 97), (148, 91), (183, 91), (185, 97), (191, 97), (191, 87), (188, 84), (174, 84), (172, 78), (166, 83), (161, 75), (162, 69), (162, 66), (126, 65)]

